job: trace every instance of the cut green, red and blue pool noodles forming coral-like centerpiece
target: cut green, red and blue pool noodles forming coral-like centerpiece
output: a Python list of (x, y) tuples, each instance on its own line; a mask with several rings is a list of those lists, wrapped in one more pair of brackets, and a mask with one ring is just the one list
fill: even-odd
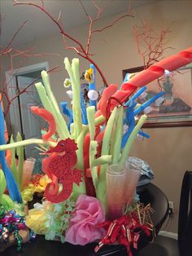
[[(192, 61), (192, 47), (181, 51), (177, 55), (172, 55), (158, 63), (151, 65), (151, 67), (137, 73), (128, 81), (124, 81), (120, 90), (118, 86), (111, 84), (105, 90), (99, 100), (98, 104), (90, 104), (86, 108), (86, 117), (88, 124), (84, 123), (85, 116), (82, 115), (83, 106), (81, 104), (81, 85), (79, 76), (79, 60), (73, 59), (72, 64), (69, 63), (68, 58), (65, 58), (64, 64), (68, 71), (70, 81), (72, 83), (72, 111), (67, 108), (67, 104), (63, 104), (63, 113), (70, 117), (70, 124), (67, 125), (60, 113), (59, 105), (56, 102), (55, 96), (50, 88), (49, 77), (46, 71), (41, 72), (41, 77), (45, 85), (42, 86), (41, 82), (36, 84), (37, 92), (40, 96), (43, 107), (49, 114), (44, 115), (43, 118), (49, 122), (50, 117), (55, 121), (55, 133), (59, 140), (74, 139), (77, 144), (76, 150), (76, 166), (82, 172), (82, 179), (79, 186), (73, 184), (72, 193), (76, 196), (86, 193), (86, 178), (92, 179), (94, 190), (98, 200), (102, 202), (106, 208), (106, 170), (107, 166), (111, 163), (124, 164), (129, 155), (129, 151), (137, 134), (146, 138), (149, 135), (142, 132), (141, 128), (146, 121), (146, 115), (142, 115), (138, 121), (135, 121), (135, 116), (142, 113), (147, 107), (164, 95), (164, 92), (159, 92), (152, 99), (146, 101), (142, 105), (137, 105), (135, 99), (145, 90), (143, 86), (155, 80), (164, 74), (164, 70), (172, 71)], [(89, 82), (89, 89), (95, 89), (95, 68), (94, 81)], [(94, 86), (94, 87), (93, 87)], [(137, 90), (139, 87), (143, 87)], [(81, 111), (82, 110), (82, 111)], [(1, 116), (2, 120), (3, 117)], [(51, 122), (51, 121), (50, 121)], [(49, 122), (49, 123), (50, 123)], [(1, 121), (2, 124), (2, 121)], [(127, 124), (128, 130), (123, 134), (123, 126)], [(57, 141), (47, 136), (42, 139), (26, 139), (17, 143), (10, 143), (5, 145), (2, 138), (3, 127), (1, 125), (1, 146), (0, 150), (8, 148), (16, 148), (21, 145), (27, 146), (30, 143), (43, 144), (48, 149), (54, 148)], [(3, 145), (4, 144), (4, 145)], [(2, 156), (2, 153), (1, 153)], [(7, 166), (4, 164), (3, 156), (1, 157), (3, 171), (7, 179)], [(99, 167), (99, 168), (98, 168)], [(50, 178), (55, 180), (53, 174)], [(8, 179), (7, 179), (8, 180)], [(7, 187), (10, 190), (11, 197), (15, 201), (21, 201), (20, 194), (12, 186), (15, 187), (13, 179), (9, 179)], [(59, 182), (58, 180), (55, 182)], [(9, 184), (11, 183), (11, 185)], [(53, 188), (54, 189), (54, 188)], [(62, 201), (62, 198), (61, 198)]]

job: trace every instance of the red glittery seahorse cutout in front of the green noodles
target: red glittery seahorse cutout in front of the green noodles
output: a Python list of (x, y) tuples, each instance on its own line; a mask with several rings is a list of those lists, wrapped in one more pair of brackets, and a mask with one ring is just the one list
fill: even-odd
[[(76, 143), (73, 139), (60, 140), (55, 148), (47, 153), (55, 153), (43, 161), (43, 171), (51, 179), (46, 186), (45, 196), (48, 201), (59, 203), (72, 194), (73, 183), (81, 182), (81, 170), (73, 169), (77, 162)], [(59, 185), (63, 185), (59, 192)]]

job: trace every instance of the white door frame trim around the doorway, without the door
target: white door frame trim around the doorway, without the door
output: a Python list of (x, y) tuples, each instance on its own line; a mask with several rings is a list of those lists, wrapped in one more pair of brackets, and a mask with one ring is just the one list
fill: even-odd
[[(6, 81), (7, 81), (7, 95), (11, 99), (15, 93), (17, 93), (15, 84), (16, 84), (16, 76), (24, 75), (25, 73), (33, 73), (38, 70), (49, 70), (49, 64), (47, 61), (41, 62), (38, 64), (33, 64), (29, 66), (24, 66), (21, 68), (15, 68), (13, 70), (6, 71)], [(10, 116), (10, 125), (11, 125), (11, 132), (15, 138), (17, 132), (21, 134), (21, 124), (20, 124), (20, 110), (19, 110), (19, 102), (18, 98), (14, 100), (14, 106), (10, 106), (9, 110)]]

